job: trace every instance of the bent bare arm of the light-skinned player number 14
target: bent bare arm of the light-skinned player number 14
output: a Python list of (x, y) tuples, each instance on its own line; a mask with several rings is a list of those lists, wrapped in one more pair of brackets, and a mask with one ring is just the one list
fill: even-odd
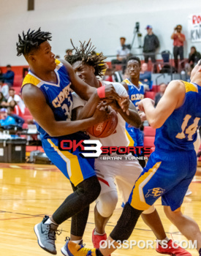
[(172, 112), (183, 105), (185, 99), (185, 86), (180, 80), (173, 80), (167, 86), (163, 97), (160, 99), (156, 108), (153, 106), (152, 99), (143, 99), (137, 102), (138, 108), (145, 112), (148, 123), (153, 128), (160, 128), (172, 114)]

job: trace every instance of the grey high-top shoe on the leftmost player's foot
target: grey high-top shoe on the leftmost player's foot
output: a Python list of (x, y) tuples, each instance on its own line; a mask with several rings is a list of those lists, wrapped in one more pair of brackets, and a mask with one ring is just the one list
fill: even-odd
[(57, 231), (57, 225), (45, 224), (49, 219), (48, 216), (45, 216), (42, 222), (34, 226), (34, 232), (38, 238), (38, 244), (46, 252), (50, 252), (52, 255), (56, 255), (56, 234), (60, 235), (61, 231)]

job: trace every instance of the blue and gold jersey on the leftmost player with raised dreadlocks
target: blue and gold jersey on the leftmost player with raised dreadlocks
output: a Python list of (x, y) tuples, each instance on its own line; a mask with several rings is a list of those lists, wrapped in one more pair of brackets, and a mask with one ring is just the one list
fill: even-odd
[[(49, 83), (37, 78), (36, 75), (29, 71), (23, 80), (22, 87), (27, 83), (37, 86), (45, 95), (45, 99), (53, 110), (56, 121), (70, 120), (72, 118), (72, 92), (70, 90), (71, 81), (69, 79), (69, 74), (66, 67), (64, 67), (64, 65), (58, 60), (56, 60), (55, 72), (57, 76), (57, 83)], [(37, 129), (42, 139), (50, 138), (50, 135), (48, 135), (48, 133), (45, 132), (39, 124), (37, 124)], [(68, 136), (72, 137), (72, 135)]]

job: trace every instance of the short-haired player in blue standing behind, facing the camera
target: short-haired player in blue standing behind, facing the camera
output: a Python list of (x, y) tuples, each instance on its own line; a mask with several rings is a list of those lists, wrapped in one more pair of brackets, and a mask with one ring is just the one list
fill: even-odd
[[(126, 78), (122, 82), (122, 85), (128, 92), (130, 100), (137, 108), (138, 112), (140, 112), (137, 107), (137, 102), (144, 99), (144, 86), (143, 83), (140, 83), (140, 59), (135, 56), (130, 57), (126, 68), (129, 73), (129, 78)], [(129, 132), (129, 135), (134, 141), (134, 146), (143, 146), (143, 135), (140, 128), (131, 127), (128, 123), (126, 123), (126, 130)], [(145, 167), (145, 160), (139, 160), (139, 162), (142, 167)]]

